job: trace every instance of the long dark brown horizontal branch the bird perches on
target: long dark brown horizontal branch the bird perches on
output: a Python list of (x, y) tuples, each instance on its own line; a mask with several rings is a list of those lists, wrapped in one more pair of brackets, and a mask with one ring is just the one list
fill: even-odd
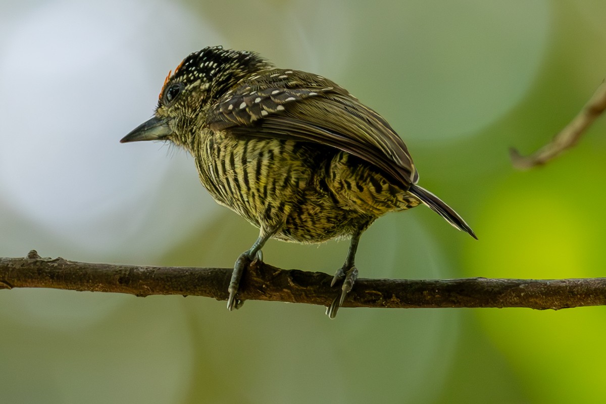
[[(139, 267), (42, 258), (0, 258), (0, 289), (55, 288), (127, 293), (179, 294), (227, 300), (231, 268)], [(241, 281), (244, 300), (329, 305), (332, 276), (281, 270), (253, 263)], [(345, 307), (528, 307), (553, 309), (606, 305), (606, 278), (590, 279), (359, 279)]]

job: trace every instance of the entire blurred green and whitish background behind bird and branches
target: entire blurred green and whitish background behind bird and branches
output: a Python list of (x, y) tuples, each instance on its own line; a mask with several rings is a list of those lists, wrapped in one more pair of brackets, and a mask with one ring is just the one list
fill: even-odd
[[(362, 237), (362, 277), (604, 276), (606, 119), (513, 170), (606, 76), (593, 1), (0, 1), (0, 256), (230, 267), (256, 230), (191, 157), (121, 145), (168, 70), (207, 45), (331, 78), (401, 134), (427, 208)], [(333, 273), (347, 242), (271, 241)], [(0, 291), (2, 403), (570, 403), (606, 394), (606, 308), (378, 310), (180, 296)]]

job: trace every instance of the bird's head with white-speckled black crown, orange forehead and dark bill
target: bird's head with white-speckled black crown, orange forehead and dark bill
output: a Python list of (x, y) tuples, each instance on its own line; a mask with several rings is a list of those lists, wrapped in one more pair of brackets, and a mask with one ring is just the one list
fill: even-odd
[(189, 148), (205, 122), (205, 112), (226, 91), (251, 73), (270, 68), (256, 53), (206, 47), (183, 59), (169, 72), (149, 121), (122, 138), (121, 143), (171, 141)]

